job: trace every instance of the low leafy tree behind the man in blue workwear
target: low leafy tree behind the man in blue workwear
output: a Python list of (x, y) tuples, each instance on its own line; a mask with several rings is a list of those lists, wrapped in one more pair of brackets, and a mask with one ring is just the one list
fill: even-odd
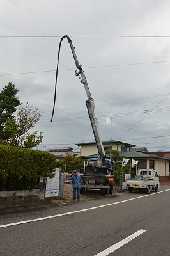
[(59, 159), (57, 161), (57, 167), (61, 168), (62, 172), (71, 173), (74, 169), (79, 170), (84, 167), (84, 161), (82, 161), (79, 157), (66, 155), (65, 159)]

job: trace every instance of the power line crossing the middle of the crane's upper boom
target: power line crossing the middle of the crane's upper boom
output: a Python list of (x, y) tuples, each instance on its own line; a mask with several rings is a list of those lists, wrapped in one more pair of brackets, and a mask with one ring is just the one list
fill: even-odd
[[(89, 68), (108, 68), (108, 67), (121, 67), (121, 66), (145, 65), (145, 64), (167, 63), (167, 62), (170, 62), (170, 60), (167, 60), (167, 61), (141, 62), (141, 63), (128, 63), (128, 64), (119, 64), (119, 65), (105, 65), (105, 66), (96, 66), (96, 67), (83, 67), (83, 68), (84, 68), (84, 69), (89, 69)], [(66, 71), (66, 70), (75, 70), (75, 68), (59, 69), (59, 71)], [(43, 71), (33, 71), (33, 72), (20, 72), (20, 73), (11, 73), (11, 74), (0, 74), (0, 76), (35, 74), (35, 73), (45, 73), (45, 72), (56, 72), (56, 70), (43, 70)]]

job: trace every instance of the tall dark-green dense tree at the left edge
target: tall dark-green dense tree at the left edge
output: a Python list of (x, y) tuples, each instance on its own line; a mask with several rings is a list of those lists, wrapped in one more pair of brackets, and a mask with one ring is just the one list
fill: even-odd
[(20, 106), (21, 102), (18, 97), (16, 97), (19, 90), (15, 88), (15, 84), (12, 82), (4, 86), (0, 93), (0, 137), (1, 131), (3, 131), (3, 123), (9, 118), (14, 118), (17, 106)]

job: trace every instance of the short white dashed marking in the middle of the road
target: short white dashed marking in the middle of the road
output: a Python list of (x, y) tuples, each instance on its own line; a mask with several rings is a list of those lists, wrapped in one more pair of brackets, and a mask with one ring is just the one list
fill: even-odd
[(111, 247), (105, 249), (104, 251), (96, 254), (95, 256), (107, 256), (110, 253), (116, 251), (118, 248), (120, 248), (121, 246), (123, 246), (124, 244), (127, 244), (128, 242), (132, 241), (133, 239), (135, 239), (135, 237), (140, 236), (141, 234), (143, 234), (144, 232), (146, 232), (146, 230), (144, 229), (140, 229), (137, 232), (135, 232), (134, 234), (126, 237), (125, 239), (121, 240), (120, 242), (112, 245)]

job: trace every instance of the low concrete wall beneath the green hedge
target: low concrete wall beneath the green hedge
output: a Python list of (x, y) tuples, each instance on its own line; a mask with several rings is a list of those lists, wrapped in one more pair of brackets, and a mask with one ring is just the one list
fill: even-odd
[(44, 204), (50, 203), (50, 201), (51, 198), (44, 198), (43, 189), (0, 192), (0, 209), (22, 205)]

